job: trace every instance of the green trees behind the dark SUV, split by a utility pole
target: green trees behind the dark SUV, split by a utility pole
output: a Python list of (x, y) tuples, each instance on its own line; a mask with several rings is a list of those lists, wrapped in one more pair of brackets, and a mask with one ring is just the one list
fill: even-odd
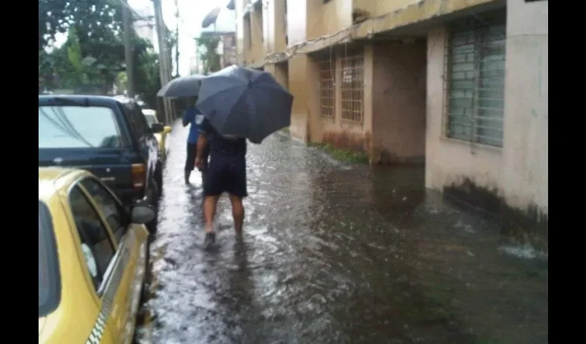
[[(41, 12), (43, 13), (41, 15)], [(46, 51), (57, 32), (68, 32), (61, 47)], [(151, 98), (161, 88), (159, 62), (149, 41), (132, 32), (137, 94)], [(39, 0), (39, 88), (108, 92), (125, 87), (121, 3), (118, 0)], [(125, 72), (123, 73), (125, 75)]]

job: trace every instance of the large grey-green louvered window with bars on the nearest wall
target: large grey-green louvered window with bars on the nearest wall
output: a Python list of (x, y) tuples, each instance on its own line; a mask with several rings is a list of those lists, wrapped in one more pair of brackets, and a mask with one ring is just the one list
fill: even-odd
[(506, 17), (455, 25), (447, 40), (447, 136), (503, 146)]

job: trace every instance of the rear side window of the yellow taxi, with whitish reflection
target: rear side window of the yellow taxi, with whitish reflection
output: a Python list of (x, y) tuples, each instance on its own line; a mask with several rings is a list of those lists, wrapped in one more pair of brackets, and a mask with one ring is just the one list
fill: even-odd
[(74, 186), (70, 192), (69, 202), (79, 239), (81, 239), (85, 264), (88, 266), (94, 287), (98, 290), (114, 257), (114, 245), (96, 209), (79, 186)]

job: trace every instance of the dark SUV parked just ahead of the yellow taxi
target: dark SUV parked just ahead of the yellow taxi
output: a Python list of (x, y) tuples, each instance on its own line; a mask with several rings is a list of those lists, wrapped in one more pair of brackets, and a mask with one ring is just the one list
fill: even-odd
[(39, 96), (39, 166), (88, 170), (125, 205), (156, 205), (163, 188), (159, 146), (135, 100)]

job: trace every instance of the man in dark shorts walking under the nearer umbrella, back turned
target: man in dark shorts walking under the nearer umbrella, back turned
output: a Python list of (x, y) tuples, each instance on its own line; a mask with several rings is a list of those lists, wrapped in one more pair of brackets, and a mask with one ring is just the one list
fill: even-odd
[(216, 241), (214, 216), (222, 193), (230, 196), (232, 217), (236, 235), (242, 234), (244, 206), (242, 200), (248, 195), (246, 189), (246, 139), (221, 136), (207, 118), (203, 118), (197, 140), (196, 166), (203, 166), (205, 147), (210, 142), (210, 165), (203, 182), (203, 216), (205, 218), (205, 241), (209, 248)]

